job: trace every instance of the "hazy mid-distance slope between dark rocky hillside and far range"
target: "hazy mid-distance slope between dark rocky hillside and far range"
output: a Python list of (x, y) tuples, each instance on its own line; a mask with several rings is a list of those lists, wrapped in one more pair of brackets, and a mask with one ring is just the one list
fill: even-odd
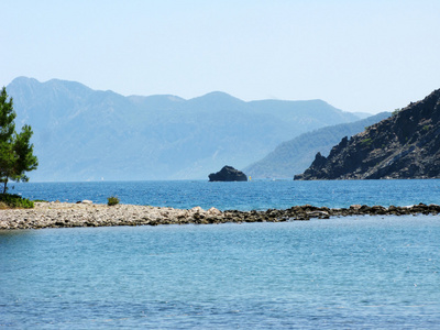
[(244, 173), (253, 178), (285, 178), (302, 173), (315, 158), (317, 152), (329, 154), (331, 147), (343, 136), (351, 136), (388, 118), (391, 112), (382, 112), (351, 123), (326, 127), (304, 133), (283, 142), (263, 160), (245, 167)]

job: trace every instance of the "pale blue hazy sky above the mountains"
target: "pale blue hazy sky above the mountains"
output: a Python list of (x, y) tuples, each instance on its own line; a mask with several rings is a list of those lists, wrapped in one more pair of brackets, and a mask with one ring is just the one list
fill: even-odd
[(2, 0), (0, 85), (322, 99), (376, 113), (440, 88), (440, 0)]

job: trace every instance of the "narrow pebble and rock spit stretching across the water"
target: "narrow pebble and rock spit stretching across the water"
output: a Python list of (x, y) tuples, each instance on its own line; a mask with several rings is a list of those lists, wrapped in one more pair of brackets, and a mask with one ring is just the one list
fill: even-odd
[(33, 209), (0, 210), (0, 230), (157, 226), (157, 224), (209, 224), (226, 222), (282, 222), (310, 219), (329, 219), (349, 216), (404, 216), (439, 215), (440, 206), (419, 204), (408, 207), (388, 208), (382, 206), (352, 205), (349, 208), (295, 206), (285, 210), (266, 211), (220, 211), (216, 208), (204, 210), (174, 209), (166, 207), (69, 202), (35, 202)]

